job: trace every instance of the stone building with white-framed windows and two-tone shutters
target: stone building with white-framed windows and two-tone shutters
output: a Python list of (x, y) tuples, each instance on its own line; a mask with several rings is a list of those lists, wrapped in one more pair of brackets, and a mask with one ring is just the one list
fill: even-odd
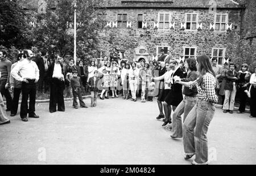
[(232, 60), (244, 10), (232, 0), (110, 1), (99, 13), (106, 20), (100, 49), (109, 55), (116, 47), (136, 61), (155, 59), (160, 49), (176, 59), (208, 54), (222, 65)]

